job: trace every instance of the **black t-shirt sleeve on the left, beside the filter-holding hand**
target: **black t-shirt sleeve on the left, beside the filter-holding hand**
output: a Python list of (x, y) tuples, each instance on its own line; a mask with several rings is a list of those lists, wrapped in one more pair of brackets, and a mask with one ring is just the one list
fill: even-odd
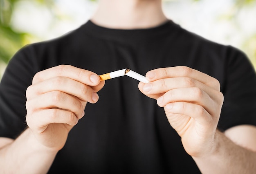
[(26, 90), (34, 76), (29, 46), (10, 60), (0, 82), (0, 137), (15, 139), (26, 128)]

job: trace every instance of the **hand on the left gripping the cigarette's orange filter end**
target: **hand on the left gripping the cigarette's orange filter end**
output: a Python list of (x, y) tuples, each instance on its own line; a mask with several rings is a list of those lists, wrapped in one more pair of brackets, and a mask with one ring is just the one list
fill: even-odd
[(26, 92), (26, 120), (37, 141), (52, 150), (63, 148), (86, 103), (98, 101), (104, 84), (97, 74), (70, 65), (36, 73)]

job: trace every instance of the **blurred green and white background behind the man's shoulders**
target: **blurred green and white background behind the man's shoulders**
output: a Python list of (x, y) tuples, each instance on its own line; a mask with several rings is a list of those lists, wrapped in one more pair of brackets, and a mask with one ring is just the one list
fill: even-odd
[[(0, 78), (18, 49), (76, 29), (97, 0), (0, 0)], [(183, 28), (243, 50), (256, 67), (256, 0), (163, 0)]]

